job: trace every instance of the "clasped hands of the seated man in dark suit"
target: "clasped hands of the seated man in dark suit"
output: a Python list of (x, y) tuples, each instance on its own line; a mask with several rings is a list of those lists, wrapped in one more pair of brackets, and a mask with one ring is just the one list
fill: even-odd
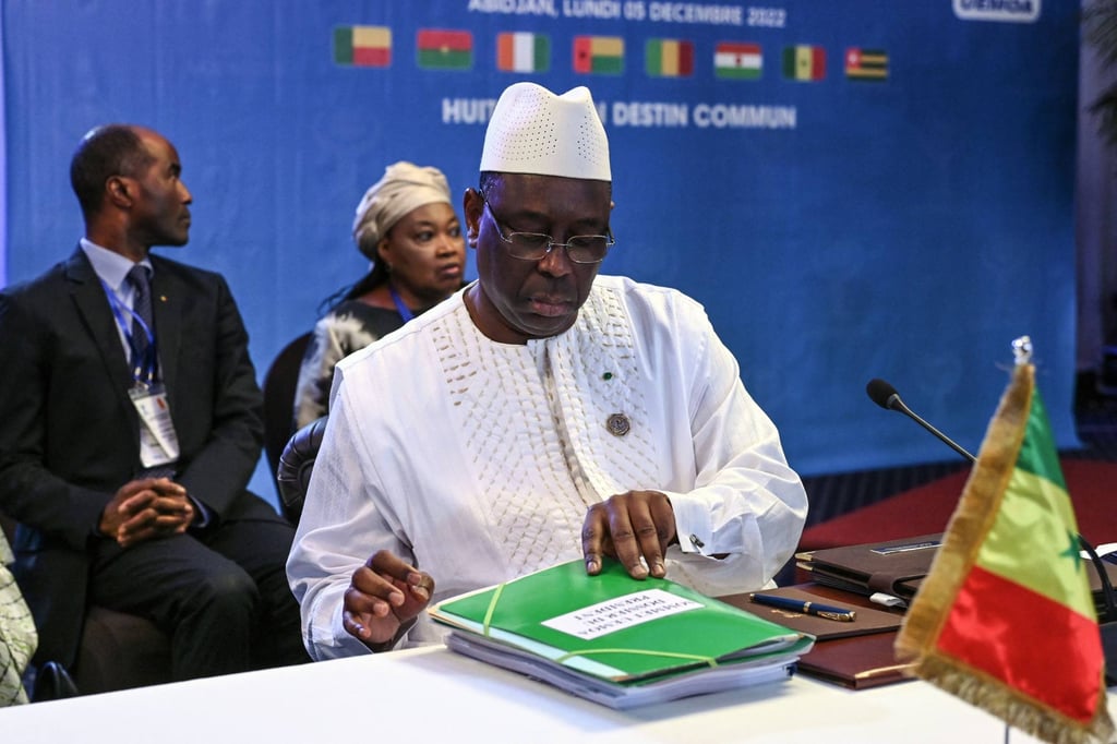
[(181, 534), (193, 519), (194, 507), (185, 488), (169, 478), (143, 478), (121, 486), (105, 505), (97, 528), (121, 547), (128, 547)]

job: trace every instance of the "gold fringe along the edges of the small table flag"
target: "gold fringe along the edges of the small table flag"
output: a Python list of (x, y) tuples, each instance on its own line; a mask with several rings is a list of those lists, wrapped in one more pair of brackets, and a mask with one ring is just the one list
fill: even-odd
[(1114, 726), (1101, 678), (1098, 679), (1099, 699), (1094, 719), (1083, 727), (1080, 722), (1039, 704), (980, 670), (939, 656), (934, 648), (958, 589), (973, 569), (982, 542), (996, 521), (1009, 479), (1015, 469), (1031, 416), (1034, 373), (1031, 364), (1016, 364), (1013, 370), (1009, 389), (1001, 398), (982, 442), (977, 462), (946, 527), (943, 544), (905, 616), (896, 639), (896, 658), (914, 661), (910, 674), (1051, 744), (1109, 742), (1114, 736)]

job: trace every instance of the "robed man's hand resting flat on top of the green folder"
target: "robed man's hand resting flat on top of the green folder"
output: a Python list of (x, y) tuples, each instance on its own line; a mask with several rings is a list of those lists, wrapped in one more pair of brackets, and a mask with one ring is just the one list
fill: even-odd
[[(601, 556), (620, 561), (633, 579), (667, 574), (663, 553), (675, 543), (675, 509), (658, 490), (630, 490), (594, 504), (582, 524), (585, 572), (601, 573)], [(643, 562), (641, 562), (643, 559)], [(647, 565), (645, 565), (647, 564)]]

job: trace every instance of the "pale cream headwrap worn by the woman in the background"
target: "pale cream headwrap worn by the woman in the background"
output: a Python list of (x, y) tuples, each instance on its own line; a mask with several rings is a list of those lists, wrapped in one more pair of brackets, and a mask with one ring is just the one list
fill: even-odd
[(384, 169), (384, 175), (369, 187), (356, 206), (353, 241), (362, 254), (376, 259), (376, 244), (392, 226), (413, 209), (450, 202), (450, 184), (437, 168), (419, 166), (401, 160)]

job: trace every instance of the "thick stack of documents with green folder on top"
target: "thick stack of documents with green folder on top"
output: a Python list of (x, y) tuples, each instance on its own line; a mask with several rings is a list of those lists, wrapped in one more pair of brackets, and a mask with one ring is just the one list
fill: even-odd
[(613, 708), (787, 679), (812, 636), (607, 561), (563, 563), (430, 608), (455, 651)]

